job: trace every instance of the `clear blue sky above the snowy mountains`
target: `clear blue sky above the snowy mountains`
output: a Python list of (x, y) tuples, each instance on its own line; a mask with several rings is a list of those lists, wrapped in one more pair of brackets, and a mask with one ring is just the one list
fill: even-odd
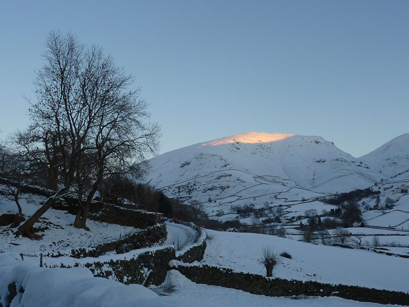
[(27, 126), (51, 30), (136, 77), (161, 152), (249, 131), (358, 157), (409, 132), (409, 1), (2, 1), (1, 138)]

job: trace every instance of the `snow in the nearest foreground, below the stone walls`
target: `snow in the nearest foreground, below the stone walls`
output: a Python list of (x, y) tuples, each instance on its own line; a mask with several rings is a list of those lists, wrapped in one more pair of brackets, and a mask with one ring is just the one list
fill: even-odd
[[(0, 255), (0, 303), (6, 304), (7, 287), (17, 281), (17, 291), (23, 293), (11, 302), (15, 306), (42, 307), (248, 307), (248, 306), (333, 306), (333, 307), (380, 307), (374, 303), (357, 302), (337, 297), (267, 297), (239, 290), (196, 284), (177, 271), (169, 271), (165, 283), (153, 287), (159, 296), (139, 284), (124, 284), (93, 277), (84, 268), (47, 269), (28, 266), (24, 261)], [(171, 292), (166, 292), (171, 290)], [(396, 306), (396, 305), (395, 305)]]

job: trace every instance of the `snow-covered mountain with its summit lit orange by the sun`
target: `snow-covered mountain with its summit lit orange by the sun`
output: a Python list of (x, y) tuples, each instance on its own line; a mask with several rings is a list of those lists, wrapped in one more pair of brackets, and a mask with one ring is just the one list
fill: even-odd
[[(246, 133), (173, 150), (150, 160), (147, 181), (171, 197), (262, 206), (367, 188), (382, 178), (321, 137)], [(210, 211), (210, 208), (207, 208)]]

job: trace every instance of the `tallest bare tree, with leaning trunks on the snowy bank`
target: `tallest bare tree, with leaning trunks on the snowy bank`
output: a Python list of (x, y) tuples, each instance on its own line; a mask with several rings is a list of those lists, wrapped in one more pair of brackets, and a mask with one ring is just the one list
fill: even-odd
[(139, 89), (129, 90), (132, 76), (117, 68), (100, 47), (85, 48), (71, 33), (51, 32), (44, 58), (46, 64), (34, 82), (38, 100), (31, 104), (30, 116), (56, 137), (62, 184), (18, 229), (17, 235), (32, 238), (38, 238), (31, 231), (34, 223), (74, 182), (77, 190), (82, 189), (75, 224), (86, 229), (89, 205), (104, 177), (137, 172), (137, 162), (155, 153), (160, 132), (156, 124), (144, 123), (147, 105)]

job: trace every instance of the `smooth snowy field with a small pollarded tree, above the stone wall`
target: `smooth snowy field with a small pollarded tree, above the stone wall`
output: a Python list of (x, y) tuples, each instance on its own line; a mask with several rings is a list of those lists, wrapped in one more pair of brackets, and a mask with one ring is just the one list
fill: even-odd
[(203, 264), (232, 268), (239, 272), (265, 274), (260, 264), (263, 247), (280, 257), (273, 274), (284, 279), (315, 280), (376, 289), (407, 291), (408, 259), (365, 250), (313, 245), (277, 236), (207, 230), (211, 239)]

